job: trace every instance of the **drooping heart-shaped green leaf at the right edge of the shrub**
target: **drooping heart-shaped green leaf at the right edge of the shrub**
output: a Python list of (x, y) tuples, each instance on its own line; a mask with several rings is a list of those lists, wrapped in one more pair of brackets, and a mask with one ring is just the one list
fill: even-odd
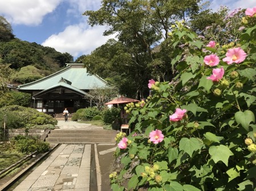
[(249, 130), (250, 122), (255, 122), (254, 113), (250, 110), (246, 110), (245, 112), (236, 112), (235, 119), (237, 124), (241, 124), (245, 130)]

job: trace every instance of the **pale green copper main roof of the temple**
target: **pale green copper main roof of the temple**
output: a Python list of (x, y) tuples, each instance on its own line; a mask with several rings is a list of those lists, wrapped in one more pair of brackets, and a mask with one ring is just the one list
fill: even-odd
[(107, 82), (104, 79), (97, 75), (89, 75), (86, 69), (82, 67), (84, 64), (68, 63), (67, 65), (65, 69), (49, 75), (48, 77), (18, 86), (18, 90), (47, 90), (52, 86), (57, 86), (61, 79), (68, 80), (71, 82), (70, 85), (72, 87), (79, 90), (92, 90), (94, 87), (101, 88), (107, 86)]

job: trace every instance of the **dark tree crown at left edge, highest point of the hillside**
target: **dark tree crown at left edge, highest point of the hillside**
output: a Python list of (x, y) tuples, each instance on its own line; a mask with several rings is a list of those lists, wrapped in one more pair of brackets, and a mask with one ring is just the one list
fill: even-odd
[(0, 42), (6, 42), (14, 39), (13, 28), (7, 20), (0, 16)]

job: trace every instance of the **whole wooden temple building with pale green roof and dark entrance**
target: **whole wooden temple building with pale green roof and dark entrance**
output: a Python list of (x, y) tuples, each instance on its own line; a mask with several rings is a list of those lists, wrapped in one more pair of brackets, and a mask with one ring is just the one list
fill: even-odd
[[(67, 63), (65, 69), (45, 78), (18, 86), (18, 91), (31, 94), (31, 107), (47, 114), (69, 113), (90, 107), (89, 90), (103, 88), (108, 83), (87, 73), (83, 63)], [(86, 96), (87, 95), (87, 96)]]

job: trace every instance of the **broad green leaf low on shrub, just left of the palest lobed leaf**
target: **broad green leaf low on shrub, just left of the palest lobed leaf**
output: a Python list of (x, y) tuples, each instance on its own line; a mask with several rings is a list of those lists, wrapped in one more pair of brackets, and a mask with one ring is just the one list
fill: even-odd
[[(203, 145), (202, 145), (203, 146)], [(194, 151), (200, 150), (201, 146), (199, 143), (199, 140), (196, 138), (182, 138), (180, 139), (180, 144), (179, 144), (180, 150), (183, 150), (184, 152), (187, 152), (187, 154), (192, 157), (192, 154)]]

